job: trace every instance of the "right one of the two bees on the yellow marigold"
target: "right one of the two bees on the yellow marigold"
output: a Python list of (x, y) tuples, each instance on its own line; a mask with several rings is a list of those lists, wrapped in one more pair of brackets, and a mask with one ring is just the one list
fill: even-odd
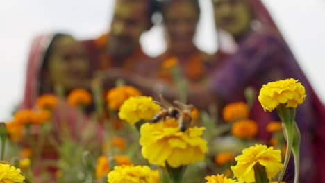
[(182, 132), (185, 132), (192, 121), (191, 112), (194, 106), (192, 104), (181, 103), (180, 101), (174, 101), (174, 104), (179, 110), (178, 127)]

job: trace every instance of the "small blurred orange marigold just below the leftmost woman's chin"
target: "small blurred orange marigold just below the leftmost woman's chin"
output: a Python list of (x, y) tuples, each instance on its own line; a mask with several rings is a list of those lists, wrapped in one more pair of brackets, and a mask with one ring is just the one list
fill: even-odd
[(90, 105), (92, 103), (92, 95), (85, 89), (74, 89), (67, 97), (67, 102), (74, 107)]

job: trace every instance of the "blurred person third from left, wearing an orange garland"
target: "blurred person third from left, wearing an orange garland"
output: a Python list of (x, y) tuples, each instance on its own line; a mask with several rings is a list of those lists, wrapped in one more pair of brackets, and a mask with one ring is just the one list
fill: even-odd
[[(170, 81), (164, 62), (176, 58), (181, 75), (192, 82), (202, 81), (213, 70), (211, 56), (194, 45), (194, 36), (200, 17), (198, 0), (164, 0), (160, 3), (165, 28), (167, 50), (156, 59), (158, 78)], [(217, 62), (218, 63), (218, 62)], [(158, 71), (158, 73), (157, 73)]]

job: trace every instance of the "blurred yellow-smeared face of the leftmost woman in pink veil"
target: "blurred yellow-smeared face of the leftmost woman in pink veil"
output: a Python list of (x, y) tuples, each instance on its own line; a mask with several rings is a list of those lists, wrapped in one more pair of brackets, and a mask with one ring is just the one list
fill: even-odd
[(86, 87), (89, 79), (89, 60), (83, 45), (73, 37), (59, 37), (53, 42), (49, 56), (49, 79), (52, 85), (65, 89)]

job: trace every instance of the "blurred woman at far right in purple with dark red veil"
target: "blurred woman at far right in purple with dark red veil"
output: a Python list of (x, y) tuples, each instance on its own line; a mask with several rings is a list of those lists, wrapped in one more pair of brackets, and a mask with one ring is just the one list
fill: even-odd
[[(265, 6), (260, 0), (213, 0), (213, 5), (217, 29), (232, 38), (221, 42), (219, 48), (228, 44), (233, 45), (235, 50), (211, 79), (210, 92), (215, 100), (219, 103), (242, 101), (246, 87), (253, 87), (258, 93), (268, 82), (286, 78), (299, 80), (306, 87), (307, 94), (303, 104), (297, 107), (296, 114), (301, 129), (300, 180), (325, 180), (322, 175), (325, 170), (324, 107)], [(258, 121), (259, 136), (263, 139), (267, 139), (267, 123), (279, 120), (275, 110), (272, 114), (264, 112), (258, 100), (253, 105), (251, 117)], [(293, 164), (288, 172), (285, 182), (292, 181)]]

